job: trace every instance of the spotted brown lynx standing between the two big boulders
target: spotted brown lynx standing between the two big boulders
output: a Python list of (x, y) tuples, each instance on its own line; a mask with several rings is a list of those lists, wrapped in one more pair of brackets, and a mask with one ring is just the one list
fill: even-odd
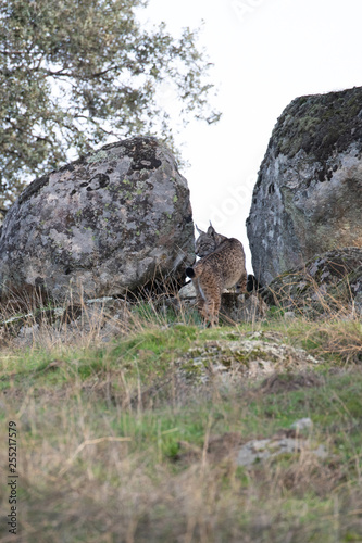
[(186, 269), (186, 275), (192, 279), (202, 317), (214, 326), (219, 320), (223, 290), (237, 285), (241, 292), (246, 291), (245, 253), (240, 241), (216, 233), (212, 226), (208, 232), (198, 231), (196, 253), (202, 257)]

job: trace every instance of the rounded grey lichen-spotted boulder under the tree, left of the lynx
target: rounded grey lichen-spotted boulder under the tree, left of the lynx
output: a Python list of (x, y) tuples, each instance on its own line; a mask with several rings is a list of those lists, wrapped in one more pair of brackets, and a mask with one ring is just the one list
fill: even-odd
[(4, 220), (0, 255), (2, 301), (177, 281), (195, 260), (187, 181), (153, 138), (105, 146), (25, 189)]

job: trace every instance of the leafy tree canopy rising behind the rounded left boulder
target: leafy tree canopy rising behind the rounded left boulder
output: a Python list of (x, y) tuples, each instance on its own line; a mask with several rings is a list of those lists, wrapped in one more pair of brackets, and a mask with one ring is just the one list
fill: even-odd
[(0, 207), (25, 182), (110, 137), (172, 139), (160, 85), (180, 118), (209, 123), (212, 89), (197, 31), (146, 29), (143, 0), (7, 0), (0, 5)]

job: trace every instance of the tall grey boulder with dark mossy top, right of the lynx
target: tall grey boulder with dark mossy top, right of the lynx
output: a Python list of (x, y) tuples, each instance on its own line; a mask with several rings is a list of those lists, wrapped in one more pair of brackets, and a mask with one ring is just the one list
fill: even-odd
[(262, 285), (315, 254), (362, 247), (362, 88), (294, 100), (272, 134), (247, 231)]

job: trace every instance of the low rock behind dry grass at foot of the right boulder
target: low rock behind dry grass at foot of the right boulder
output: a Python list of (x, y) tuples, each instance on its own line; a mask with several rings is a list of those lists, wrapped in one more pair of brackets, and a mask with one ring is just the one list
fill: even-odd
[(327, 251), (300, 269), (276, 277), (264, 290), (269, 304), (294, 308), (308, 316), (347, 311), (357, 314), (362, 295), (362, 248)]

